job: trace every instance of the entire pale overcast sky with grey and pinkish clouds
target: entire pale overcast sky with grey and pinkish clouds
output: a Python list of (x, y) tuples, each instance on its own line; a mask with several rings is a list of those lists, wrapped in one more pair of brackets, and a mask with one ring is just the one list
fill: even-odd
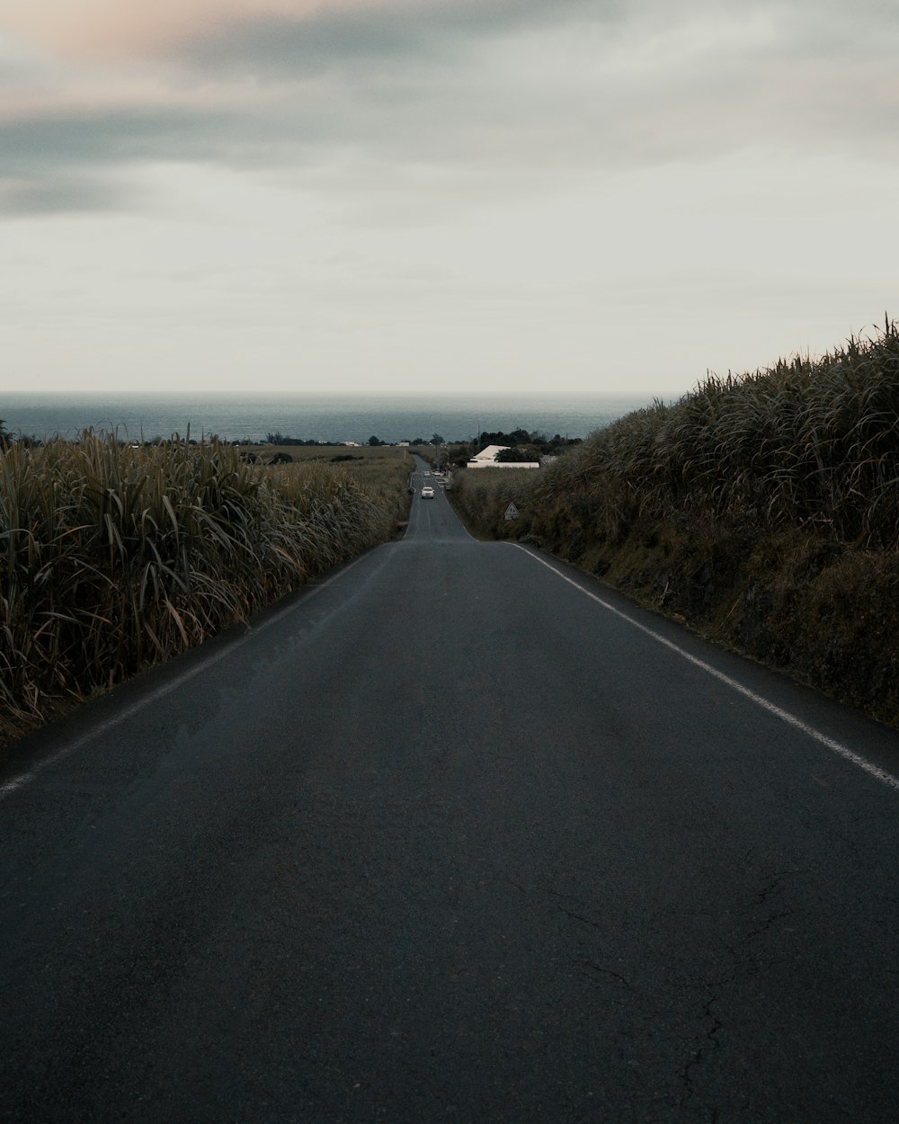
[(896, 0), (3, 0), (0, 390), (650, 390), (899, 317)]

